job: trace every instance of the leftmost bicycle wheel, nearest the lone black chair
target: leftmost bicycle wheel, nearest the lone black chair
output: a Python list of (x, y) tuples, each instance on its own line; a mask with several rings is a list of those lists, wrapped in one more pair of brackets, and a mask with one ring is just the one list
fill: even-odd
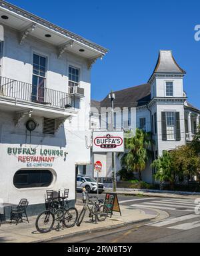
[(55, 219), (51, 211), (43, 211), (37, 216), (35, 227), (39, 233), (47, 233), (53, 228)]

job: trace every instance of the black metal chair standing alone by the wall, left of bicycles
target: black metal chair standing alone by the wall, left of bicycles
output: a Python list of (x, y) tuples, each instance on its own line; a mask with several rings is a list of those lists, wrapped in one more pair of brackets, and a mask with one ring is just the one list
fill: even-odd
[[(16, 221), (16, 225), (17, 225), (19, 221), (23, 222), (23, 220), (29, 223), (29, 219), (27, 217), (28, 205), (29, 205), (29, 202), (27, 199), (21, 199), (17, 207), (11, 207), (10, 223), (12, 223), (13, 221)], [(26, 219), (23, 219), (23, 217), (25, 217)]]

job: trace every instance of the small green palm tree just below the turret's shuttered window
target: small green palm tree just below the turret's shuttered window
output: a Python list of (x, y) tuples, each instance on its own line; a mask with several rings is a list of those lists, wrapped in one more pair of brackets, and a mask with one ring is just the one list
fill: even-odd
[(161, 183), (169, 181), (171, 185), (175, 183), (175, 171), (173, 171), (173, 158), (171, 153), (164, 151), (163, 155), (153, 161), (152, 167), (156, 169), (155, 180)]

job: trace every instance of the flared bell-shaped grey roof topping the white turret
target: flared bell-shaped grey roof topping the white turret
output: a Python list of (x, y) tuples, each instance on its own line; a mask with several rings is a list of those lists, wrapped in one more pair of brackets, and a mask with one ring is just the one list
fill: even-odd
[[(153, 71), (153, 74), (159, 73), (175, 73), (175, 74), (185, 74), (186, 72), (181, 69), (181, 67), (175, 61), (172, 51), (160, 50), (157, 64)], [(151, 75), (151, 77), (153, 76)], [(151, 80), (151, 77), (149, 81)]]

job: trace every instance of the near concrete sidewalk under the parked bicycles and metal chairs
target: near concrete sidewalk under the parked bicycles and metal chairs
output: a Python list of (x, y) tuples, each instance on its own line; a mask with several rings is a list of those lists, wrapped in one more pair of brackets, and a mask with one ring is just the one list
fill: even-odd
[[(77, 203), (76, 207), (80, 213), (83, 206)], [(120, 216), (119, 213), (113, 213), (114, 215), (112, 219), (107, 218), (103, 222), (98, 222), (98, 224), (86, 223), (85, 221), (89, 220), (88, 213), (86, 213), (85, 219), (80, 227), (75, 226), (71, 229), (61, 229), (60, 231), (53, 229), (51, 232), (45, 234), (36, 231), (36, 217), (29, 218), (30, 224), (24, 222), (19, 223), (19, 225), (16, 226), (15, 224), (10, 225), (9, 223), (6, 223), (0, 226), (0, 243), (39, 243), (52, 241), (62, 237), (72, 237), (85, 233), (105, 231), (123, 227), (125, 225), (131, 225), (133, 223), (149, 221), (151, 219), (159, 218), (161, 215), (162, 219), (168, 217), (167, 213), (161, 213), (161, 211), (154, 209), (145, 209), (141, 211), (127, 206), (121, 206), (121, 213), (122, 216)]]

